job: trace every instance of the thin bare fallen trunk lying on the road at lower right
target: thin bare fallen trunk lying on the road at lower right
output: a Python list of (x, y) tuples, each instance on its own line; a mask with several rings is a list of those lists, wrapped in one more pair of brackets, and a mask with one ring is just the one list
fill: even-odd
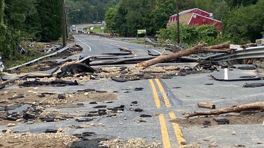
[(198, 115), (221, 115), (221, 114), (226, 114), (226, 113), (231, 113), (231, 112), (241, 112), (241, 111), (264, 111), (264, 106), (263, 105), (240, 105), (236, 107), (231, 107), (231, 108), (225, 108), (221, 110), (215, 110), (215, 111), (194, 111), (189, 113), (186, 118), (189, 117), (194, 117)]

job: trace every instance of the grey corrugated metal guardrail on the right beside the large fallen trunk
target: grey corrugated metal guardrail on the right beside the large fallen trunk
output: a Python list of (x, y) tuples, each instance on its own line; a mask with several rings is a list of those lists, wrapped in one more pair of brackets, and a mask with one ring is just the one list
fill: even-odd
[(232, 54), (225, 53), (207, 53), (201, 54), (199, 59), (210, 60), (211, 62), (228, 62), (241, 59), (264, 58), (264, 46), (239, 48)]

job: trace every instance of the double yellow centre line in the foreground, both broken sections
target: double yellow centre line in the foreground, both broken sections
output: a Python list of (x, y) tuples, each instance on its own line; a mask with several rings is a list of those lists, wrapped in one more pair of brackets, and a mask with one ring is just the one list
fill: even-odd
[[(171, 107), (169, 99), (168, 99), (168, 97), (167, 97), (167, 95), (166, 95), (166, 93), (165, 93), (160, 81), (158, 79), (155, 79), (155, 81), (156, 81), (156, 83), (158, 85), (158, 88), (159, 88), (161, 94), (162, 94), (162, 98), (164, 99), (166, 107)], [(156, 87), (154, 85), (154, 82), (153, 82), (152, 79), (149, 79), (149, 82), (150, 82), (150, 85), (151, 85), (151, 88), (152, 88), (152, 93), (153, 93), (153, 96), (154, 96), (156, 107), (157, 108), (161, 108), (160, 99), (158, 97), (157, 89), (156, 89)], [(173, 112), (170, 112), (169, 116), (170, 116), (171, 120), (176, 119), (176, 116), (175, 116), (175, 114)], [(164, 148), (171, 148), (171, 142), (170, 142), (170, 138), (169, 138), (169, 134), (168, 134), (168, 130), (167, 130), (164, 114), (160, 114), (159, 115), (159, 120), (160, 120), (160, 125), (161, 125), (161, 134), (162, 134), (163, 147)], [(180, 142), (183, 140), (183, 136), (182, 136), (182, 133), (181, 133), (181, 130), (180, 130), (180, 126), (179, 126), (179, 124), (176, 124), (176, 123), (172, 123), (172, 126), (174, 128), (175, 136), (177, 138), (177, 143), (180, 146), (181, 145)]]

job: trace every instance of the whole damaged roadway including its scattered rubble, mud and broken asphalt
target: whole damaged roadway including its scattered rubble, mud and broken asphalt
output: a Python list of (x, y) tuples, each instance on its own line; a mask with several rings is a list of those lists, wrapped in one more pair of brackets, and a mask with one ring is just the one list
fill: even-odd
[[(111, 39), (101, 37), (89, 36), (90, 38), (88, 38), (84, 35), (76, 37), (92, 49), (89, 54), (89, 47), (81, 45), (84, 48), (82, 56), (105, 53), (100, 49), (109, 49), (109, 47), (115, 46), (111, 44), (128, 49), (131, 44), (110, 41)], [(100, 42), (101, 47), (96, 46), (98, 42)], [(147, 56), (145, 55), (148, 54), (147, 48), (144, 49), (143, 45), (135, 46), (131, 51), (135, 51), (137, 56)], [(138, 46), (141, 50), (137, 50), (139, 49)], [(119, 47), (115, 46), (115, 49), (117, 48)], [(110, 50), (107, 52), (114, 53)], [(73, 58), (79, 56), (78, 54), (73, 55)], [(51, 78), (39, 78), (39, 80), (37, 80), (38, 78), (18, 80), (15, 84), (0, 90), (0, 101), (7, 100), (7, 102), (0, 104), (1, 107), (3, 106), (0, 127), (1, 130), (11, 130), (11, 133), (16, 131), (19, 133), (57, 133), (57, 129), (62, 128), (60, 134), (70, 134), (77, 137), (82, 137), (84, 132), (91, 132), (97, 136), (91, 134), (92, 137), (86, 136), (86, 138), (97, 139), (96, 142), (98, 142), (98, 138), (105, 137), (100, 135), (109, 135), (110, 137), (105, 137), (109, 140), (120, 137), (121, 142), (138, 138), (137, 140), (141, 141), (142, 147), (144, 147), (144, 142), (142, 142), (144, 140), (151, 145), (150, 147), (184, 147), (185, 145), (180, 144), (183, 139), (186, 140), (186, 147), (197, 143), (193, 145), (199, 145), (203, 148), (214, 142), (217, 142), (218, 147), (223, 148), (234, 147), (235, 144), (245, 147), (264, 147), (262, 144), (264, 142), (263, 134), (259, 132), (262, 131), (262, 122), (264, 121), (264, 117), (261, 115), (239, 115), (239, 113), (219, 115), (219, 117), (228, 119), (229, 124), (218, 124), (214, 120), (218, 115), (184, 118), (193, 111), (211, 110), (198, 107), (198, 102), (212, 103), (216, 105), (216, 109), (224, 109), (235, 105), (263, 101), (262, 87), (243, 87), (247, 83), (264, 83), (263, 80), (216, 81), (212, 75), (219, 74), (224, 79), (224, 73), (221, 74), (220, 69), (216, 71), (220, 67), (213, 65), (209, 67), (205, 65), (204, 68), (202, 68), (203, 65), (195, 67), (197, 64), (163, 63), (159, 64), (161, 67), (149, 67), (147, 69), (130, 68), (134, 65), (123, 64), (116, 65), (116, 68), (113, 66), (92, 66), (96, 72), (84, 72), (72, 76), (70, 76), (72, 73), (65, 72), (64, 75), (69, 74), (69, 77), (57, 78), (52, 76)], [(252, 71), (243, 72), (243, 76), (255, 74), (252, 74)], [(243, 79), (240, 78), (240, 75), (229, 70), (228, 76), (232, 80)], [(128, 81), (118, 82), (112, 80), (113, 77)], [(51, 81), (58, 80), (72, 82), (76, 80), (75, 83), (78, 85), (54, 87)], [(29, 87), (18, 85), (18, 83), (25, 84), (26, 81), (41, 81), (48, 84)], [(205, 85), (209, 83), (213, 83), (213, 85)], [(8, 98), (16, 96), (24, 96), (24, 98), (17, 97), (8, 100)], [(7, 113), (5, 107), (11, 104), (16, 104), (17, 107), (13, 108), (21, 112), (16, 114), (9, 110)], [(28, 108), (29, 104), (30, 107)], [(10, 120), (13, 118), (7, 120), (5, 117), (9, 115), (19, 121)], [(203, 125), (204, 121), (210, 121), (210, 124)], [(7, 127), (9, 123), (15, 124), (15, 126)], [(233, 131), (235, 131), (235, 135), (232, 134)], [(55, 135), (55, 133), (52, 134)], [(74, 137), (67, 138), (69, 138), (68, 141), (75, 139)], [(205, 138), (207, 139), (204, 140)], [(14, 140), (16, 141), (16, 138)], [(34, 142), (34, 140), (32, 141)], [(44, 138), (43, 141), (45, 141)], [(79, 144), (84, 147), (91, 143), (82, 141)], [(10, 143), (2, 144), (11, 145)], [(112, 145), (112, 147), (115, 146)]]

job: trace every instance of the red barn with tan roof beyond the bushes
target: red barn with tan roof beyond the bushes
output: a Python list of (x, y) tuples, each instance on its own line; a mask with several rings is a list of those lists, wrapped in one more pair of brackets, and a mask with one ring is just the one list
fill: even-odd
[[(212, 13), (198, 8), (185, 10), (179, 13), (179, 22), (186, 25), (214, 24), (218, 31), (221, 31), (222, 22), (215, 20)], [(167, 27), (177, 23), (177, 14), (172, 15)]]

